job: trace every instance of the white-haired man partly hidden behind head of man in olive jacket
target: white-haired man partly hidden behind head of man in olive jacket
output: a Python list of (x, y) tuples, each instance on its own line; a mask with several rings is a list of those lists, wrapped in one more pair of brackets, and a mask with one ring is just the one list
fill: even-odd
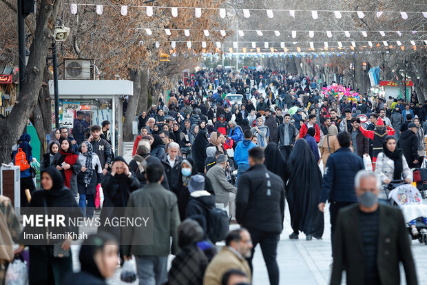
[[(136, 148), (136, 155), (134, 159), (129, 162), (129, 170), (132, 171), (138, 178), (140, 186), (143, 187), (147, 184), (147, 179), (145, 178), (145, 170), (147, 170), (147, 165), (151, 163), (160, 163), (160, 159), (154, 157), (150, 154), (151, 146), (147, 139), (141, 139), (138, 143), (138, 148)], [(167, 176), (165, 171), (163, 171), (163, 180), (162, 186), (169, 190), (169, 183), (167, 181)]]

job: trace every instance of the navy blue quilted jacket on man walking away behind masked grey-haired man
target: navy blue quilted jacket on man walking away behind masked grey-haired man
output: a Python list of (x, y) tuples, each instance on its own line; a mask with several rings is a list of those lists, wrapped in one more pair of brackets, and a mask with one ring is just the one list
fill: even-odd
[(364, 169), (362, 159), (350, 148), (336, 150), (326, 162), (320, 202), (329, 200), (357, 203), (354, 179), (356, 173)]

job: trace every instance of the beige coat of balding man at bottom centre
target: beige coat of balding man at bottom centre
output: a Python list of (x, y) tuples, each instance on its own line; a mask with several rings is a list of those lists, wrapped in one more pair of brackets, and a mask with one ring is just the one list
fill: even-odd
[(251, 268), (246, 259), (238, 257), (228, 246), (223, 246), (207, 266), (203, 285), (221, 285), (222, 275), (230, 269), (240, 270), (246, 273), (249, 280), (252, 279)]

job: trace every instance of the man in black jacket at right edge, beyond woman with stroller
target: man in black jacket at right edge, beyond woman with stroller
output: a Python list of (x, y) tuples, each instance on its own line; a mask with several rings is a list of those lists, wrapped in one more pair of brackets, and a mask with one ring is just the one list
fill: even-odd
[[(409, 114), (410, 115), (410, 114)], [(400, 134), (399, 148), (404, 150), (406, 161), (408, 162), (409, 168), (417, 168), (418, 164), (418, 138), (417, 125), (415, 123), (408, 124), (408, 130), (405, 130)]]

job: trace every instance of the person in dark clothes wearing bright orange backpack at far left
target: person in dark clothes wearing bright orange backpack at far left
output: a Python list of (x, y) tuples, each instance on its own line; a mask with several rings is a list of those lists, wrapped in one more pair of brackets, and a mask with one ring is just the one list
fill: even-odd
[[(25, 170), (22, 170), (21, 167), (21, 207), (28, 206), (28, 200), (25, 195), (25, 189), (30, 190), (30, 193), (34, 191), (36, 186), (34, 185), (34, 181), (31, 177), (31, 162), (35, 161), (36, 159), (32, 157), (32, 146), (30, 146), (31, 136), (28, 134), (23, 134), (17, 141), (17, 145), (14, 146), (14, 151), (12, 153), (13, 157), (13, 164), (15, 166), (19, 165), (26, 165), (27, 168)], [(25, 159), (22, 159), (22, 155), (17, 155), (19, 151), (22, 151), (25, 153)], [(18, 161), (16, 161), (18, 159)]]

